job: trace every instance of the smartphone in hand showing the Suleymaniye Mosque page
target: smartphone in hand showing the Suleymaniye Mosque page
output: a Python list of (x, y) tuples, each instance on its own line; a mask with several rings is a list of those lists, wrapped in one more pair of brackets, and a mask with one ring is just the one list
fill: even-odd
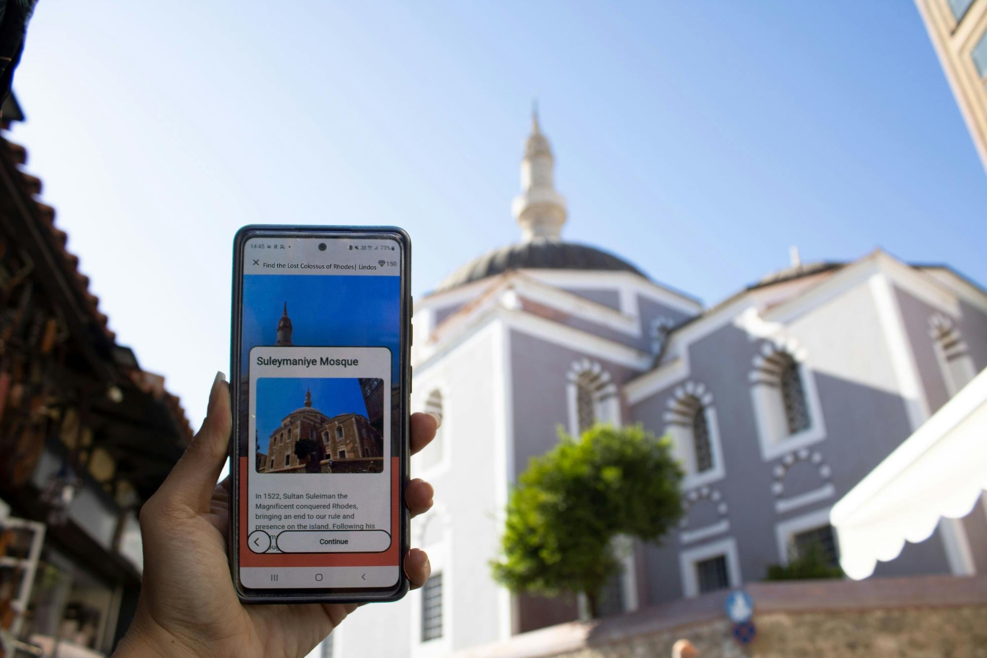
[(229, 556), (241, 601), (408, 591), (410, 286), (397, 227), (237, 232)]

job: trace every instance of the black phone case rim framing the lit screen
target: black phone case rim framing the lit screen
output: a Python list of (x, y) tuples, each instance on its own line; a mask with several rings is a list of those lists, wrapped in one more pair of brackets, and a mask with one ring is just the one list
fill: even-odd
[(401, 405), (398, 417), (392, 422), (401, 423), (401, 442), (399, 463), (401, 472), (398, 483), (400, 487), (398, 504), (401, 506), (399, 519), (400, 528), (398, 533), (399, 554), (404, 559), (404, 555), (409, 550), (409, 524), (411, 521), (408, 506), (405, 504), (405, 491), (408, 483), (409, 457), (411, 455), (410, 446), (410, 401), (411, 394), (411, 364), (410, 348), (412, 335), (412, 240), (408, 233), (397, 226), (306, 226), (306, 225), (277, 225), (277, 224), (251, 224), (242, 227), (233, 238), (233, 306), (230, 331), (230, 395), (233, 402), (233, 435), (230, 441), (230, 517), (228, 535), (228, 554), (230, 560), (230, 575), (237, 591), (237, 596), (244, 603), (258, 604), (287, 604), (287, 603), (370, 603), (398, 601), (408, 593), (409, 583), (405, 569), (399, 561), (398, 583), (393, 588), (372, 588), (356, 589), (338, 588), (333, 592), (319, 592), (310, 589), (284, 589), (284, 590), (256, 590), (244, 588), (240, 582), (240, 414), (241, 404), (240, 391), (240, 328), (242, 319), (242, 294), (243, 294), (243, 246), (252, 237), (315, 237), (326, 235), (327, 238), (339, 237), (345, 234), (346, 237), (358, 238), (364, 235), (368, 238), (380, 236), (382, 234), (394, 237), (402, 243), (404, 258), (402, 259), (401, 271), (401, 342), (400, 350), (400, 393)]

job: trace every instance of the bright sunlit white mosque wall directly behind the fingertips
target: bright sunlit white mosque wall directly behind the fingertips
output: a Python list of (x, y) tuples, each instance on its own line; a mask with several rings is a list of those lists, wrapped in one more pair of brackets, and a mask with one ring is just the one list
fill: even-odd
[(412, 545), (428, 551), (432, 573), (442, 573), (443, 636), (420, 642), (416, 591), (354, 613), (339, 631), (337, 655), (439, 656), (509, 635), (509, 597), (490, 569), (506, 495), (505, 337), (491, 322), (441, 360), (415, 369), (413, 410), (423, 409), (433, 390), (443, 403), (440, 438), (425, 449), (441, 456), (428, 467), (421, 456), (412, 458), (413, 477), (436, 491), (433, 510), (412, 522)]

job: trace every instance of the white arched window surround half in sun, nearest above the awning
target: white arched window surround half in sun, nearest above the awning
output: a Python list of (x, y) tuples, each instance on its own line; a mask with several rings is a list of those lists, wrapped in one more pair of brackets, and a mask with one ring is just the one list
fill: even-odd
[[(809, 425), (795, 434), (789, 434), (782, 400), (781, 372), (774, 363), (777, 355), (788, 355), (796, 362), (805, 405), (808, 407)], [(761, 458), (770, 461), (786, 452), (811, 446), (826, 438), (826, 422), (815, 386), (815, 373), (809, 368), (805, 350), (798, 346), (795, 339), (764, 341), (760, 353), (751, 361), (751, 366), (747, 378), (751, 384), (750, 397)]]

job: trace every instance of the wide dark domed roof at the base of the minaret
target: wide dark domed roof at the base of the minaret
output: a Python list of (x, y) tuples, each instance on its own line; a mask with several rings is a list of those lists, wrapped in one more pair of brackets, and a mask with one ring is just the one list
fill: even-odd
[(435, 292), (465, 286), (508, 270), (588, 270), (630, 272), (647, 279), (644, 272), (613, 254), (575, 242), (536, 238), (494, 249), (458, 268)]

